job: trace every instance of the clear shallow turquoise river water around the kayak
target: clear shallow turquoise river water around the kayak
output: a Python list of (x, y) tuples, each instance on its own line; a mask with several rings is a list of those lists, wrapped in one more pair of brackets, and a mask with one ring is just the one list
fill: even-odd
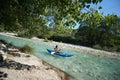
[(37, 57), (71, 75), (71, 80), (120, 80), (120, 59), (95, 56), (72, 48), (64, 48), (63, 51), (74, 54), (73, 57), (60, 57), (47, 52), (47, 48), (55, 46), (47, 42), (3, 35), (0, 39), (18, 47), (25, 44), (33, 47)]

